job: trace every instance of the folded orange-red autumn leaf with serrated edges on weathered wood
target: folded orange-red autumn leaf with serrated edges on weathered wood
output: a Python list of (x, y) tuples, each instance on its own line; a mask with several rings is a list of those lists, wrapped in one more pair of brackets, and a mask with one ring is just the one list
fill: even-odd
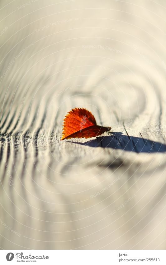
[(102, 135), (111, 127), (96, 124), (92, 113), (86, 109), (75, 108), (65, 116), (61, 140), (70, 138), (89, 138)]

